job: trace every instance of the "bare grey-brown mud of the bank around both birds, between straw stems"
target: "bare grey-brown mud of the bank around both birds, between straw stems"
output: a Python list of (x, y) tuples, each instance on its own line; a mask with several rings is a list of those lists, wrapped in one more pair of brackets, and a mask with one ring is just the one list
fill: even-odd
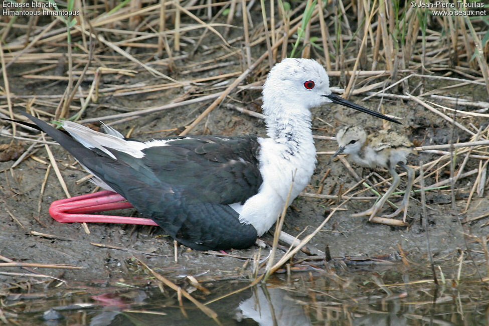
[[(174, 95), (174, 94), (172, 94)], [(152, 97), (152, 96), (148, 96)], [(260, 97), (260, 92), (247, 91), (241, 95), (242, 100), (247, 103)], [(352, 98), (360, 102), (360, 98)], [(165, 103), (165, 99), (116, 99), (115, 102), (122, 103), (125, 107), (135, 108), (144, 105), (155, 105)], [(113, 114), (113, 110), (104, 108), (104, 105), (114, 104), (112, 98), (104, 99), (100, 107), (89, 108), (87, 116), (103, 116)], [(363, 102), (363, 105), (375, 109), (379, 101), (374, 99)], [(423, 145), (446, 143), (450, 135), (451, 126), (445, 120), (427, 112), (419, 105), (412, 103), (403, 104), (400, 101), (389, 101), (384, 103), (389, 114), (402, 117), (402, 126), (392, 126), (409, 135)], [(176, 126), (183, 126), (192, 121), (206, 107), (204, 103), (192, 105), (185, 108), (165, 110), (164, 112), (148, 114), (138, 117), (130, 122), (117, 124), (115, 127), (122, 133), (132, 128), (131, 136), (139, 139), (150, 139), (152, 137), (168, 135), (169, 131), (150, 133), (154, 130), (169, 130)], [(315, 108), (313, 113), (313, 133), (316, 135), (333, 136), (345, 121), (349, 124), (368, 125), (369, 128), (379, 128), (382, 121), (371, 118), (348, 109), (338, 107)], [(343, 121), (343, 122), (341, 122)], [(194, 134), (241, 134), (256, 133), (265, 135), (264, 123), (245, 114), (241, 114), (224, 107), (215, 109), (207, 118), (205, 123), (198, 125), (192, 131)], [(467, 140), (468, 136), (459, 133), (458, 141)], [(0, 138), (2, 143), (9, 143), (8, 137)], [(29, 142), (23, 142), (28, 147)], [(60, 146), (50, 145), (57, 159), (64, 181), (72, 196), (86, 194), (95, 189), (90, 182), (76, 184), (77, 180), (87, 174), (81, 169), (76, 161), (67, 154)], [(335, 150), (336, 143), (329, 140), (316, 140), (318, 151)], [(420, 160), (432, 161), (439, 155), (421, 153), (412, 157), (411, 165), (418, 165)], [(456, 158), (457, 167), (461, 164), (463, 155)], [(90, 280), (119, 279), (131, 277), (134, 270), (133, 257), (145, 259), (149, 266), (165, 270), (169, 275), (179, 274), (201, 274), (207, 275), (246, 275), (247, 267), (243, 265), (247, 259), (258, 252), (257, 247), (248, 250), (235, 250), (229, 252), (230, 257), (206, 254), (193, 251), (186, 247), (178, 247), (178, 263), (174, 260), (173, 240), (167, 237), (159, 228), (147, 226), (127, 226), (118, 224), (90, 224), (90, 234), (86, 234), (78, 223), (61, 224), (54, 221), (48, 214), (48, 208), (52, 201), (65, 198), (66, 195), (60, 183), (50, 169), (47, 177), (46, 188), (42, 196), (40, 191), (49, 166), (49, 157), (44, 145), (35, 147), (33, 155), (24, 160), (19, 166), (10, 169), (12, 161), (0, 163), (0, 184), (2, 185), (2, 206), (4, 207), (0, 222), (0, 254), (4, 257), (21, 262), (70, 264), (83, 267), (82, 269), (42, 269), (43, 273), (63, 278), (66, 280)], [(353, 169), (360, 176), (369, 175), (372, 170), (360, 168), (354, 164)], [(469, 160), (465, 171), (476, 168), (478, 162)], [(319, 182), (325, 172), (331, 169), (329, 176), (324, 179), (323, 185)], [(439, 173), (427, 177), (425, 183), (431, 185), (439, 180), (447, 178), (447, 169), (443, 168)], [(388, 174), (376, 170), (379, 178), (387, 178)], [(438, 179), (437, 179), (438, 178)], [(461, 179), (456, 183), (456, 207), (457, 212), (451, 211), (450, 193), (446, 189), (435, 190), (427, 193), (428, 220), (431, 239), (431, 248), (436, 255), (453, 253), (456, 248), (463, 248), (463, 230), (457, 219), (480, 216), (487, 213), (487, 199), (473, 198), (469, 210), (462, 216), (457, 216), (465, 204), (468, 192), (475, 181), (476, 174)], [(338, 160), (332, 160), (330, 155), (319, 155), (317, 166), (309, 186), (304, 190), (308, 193), (316, 193), (322, 187), (322, 193), (337, 194), (340, 187), (349, 189), (357, 181), (345, 166)], [(400, 189), (404, 189), (403, 180)], [(360, 188), (359, 188), (360, 189)], [(386, 185), (379, 187), (385, 191)], [(419, 189), (419, 186), (415, 186)], [(361, 196), (371, 196), (368, 192)], [(367, 195), (368, 194), (368, 195)], [(396, 203), (400, 201), (391, 199)], [(40, 203), (41, 201), (41, 203)], [(40, 206), (38, 206), (40, 203)], [(284, 231), (297, 235), (305, 230), (304, 234), (311, 232), (323, 220), (334, 207), (335, 203), (324, 202), (319, 199), (297, 198), (293, 207), (289, 208), (285, 220)], [(401, 247), (410, 259), (418, 260), (426, 257), (426, 236), (420, 225), (421, 205), (419, 193), (411, 200), (408, 217), (411, 225), (408, 228), (391, 227), (386, 225), (369, 223), (366, 218), (352, 218), (350, 214), (367, 209), (372, 202), (351, 201), (344, 208), (346, 210), (337, 212), (330, 222), (310, 242), (310, 246), (324, 251), (329, 246), (333, 256), (343, 255), (381, 255), (398, 251)], [(38, 213), (38, 208), (40, 211)], [(388, 205), (384, 206), (385, 212), (391, 212)], [(123, 212), (131, 214), (130, 210)], [(474, 224), (465, 224), (466, 230), (474, 236), (486, 234), (481, 224), (485, 221), (479, 220)], [(31, 232), (47, 234), (46, 236), (33, 235)], [(271, 239), (271, 235), (265, 235), (265, 239)], [(399, 247), (400, 246), (400, 247)], [(266, 250), (265, 250), (266, 251)], [(241, 258), (235, 258), (237, 255)], [(266, 254), (261, 251), (262, 257)], [(18, 269), (11, 269), (11, 271)], [(6, 269), (7, 271), (7, 269)], [(8, 281), (10, 276), (0, 276)]]

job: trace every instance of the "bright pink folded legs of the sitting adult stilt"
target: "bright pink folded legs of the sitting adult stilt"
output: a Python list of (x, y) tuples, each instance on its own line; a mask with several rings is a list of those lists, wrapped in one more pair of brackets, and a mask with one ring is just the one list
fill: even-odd
[(132, 208), (132, 205), (119, 194), (105, 190), (94, 194), (57, 200), (51, 203), (49, 214), (61, 223), (97, 222), (157, 225), (151, 219), (139, 217), (84, 214), (124, 208)]

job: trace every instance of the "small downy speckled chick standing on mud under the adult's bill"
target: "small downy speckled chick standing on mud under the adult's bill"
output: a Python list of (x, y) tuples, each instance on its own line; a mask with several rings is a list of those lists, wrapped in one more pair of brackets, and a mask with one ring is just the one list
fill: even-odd
[(359, 126), (343, 127), (338, 131), (336, 139), (340, 148), (333, 157), (341, 153), (350, 154), (350, 157), (357, 164), (369, 168), (384, 167), (392, 176), (392, 185), (385, 195), (370, 209), (352, 216), (370, 215), (369, 220), (372, 220), (387, 201), (387, 198), (399, 186), (400, 178), (396, 172), (396, 166), (398, 165), (405, 169), (408, 175), (404, 199), (394, 213), (383, 215), (382, 217), (392, 218), (404, 211), (403, 221), (406, 222), (409, 193), (414, 182), (414, 170), (406, 165), (406, 157), (410, 153), (417, 154), (413, 143), (406, 136), (400, 135), (395, 131), (380, 130), (367, 136), (365, 130)]

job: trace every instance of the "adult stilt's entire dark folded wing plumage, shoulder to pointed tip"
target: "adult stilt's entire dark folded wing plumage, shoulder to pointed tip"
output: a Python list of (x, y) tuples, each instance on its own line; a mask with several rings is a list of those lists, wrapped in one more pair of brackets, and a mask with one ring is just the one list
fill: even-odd
[(217, 250), (247, 248), (256, 240), (254, 227), (240, 223), (227, 205), (244, 202), (261, 185), (256, 137), (175, 137), (171, 145), (143, 150), (142, 159), (108, 148), (113, 159), (23, 114), (181, 243)]

